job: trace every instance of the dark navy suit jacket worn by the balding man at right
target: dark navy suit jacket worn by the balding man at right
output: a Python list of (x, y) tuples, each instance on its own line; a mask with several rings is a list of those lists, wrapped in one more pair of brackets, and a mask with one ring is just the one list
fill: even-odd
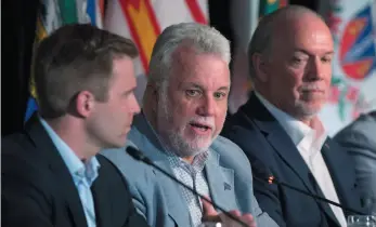
[[(259, 179), (268, 172), (282, 182), (324, 197), (291, 138), (256, 95), (252, 94), (225, 122), (222, 135), (246, 152), (252, 166), (255, 196), (260, 208), (280, 226), (339, 226), (325, 202)], [(348, 153), (328, 138), (322, 155), (340, 203), (361, 210), (353, 163)], [(345, 215), (349, 213), (345, 212)]]

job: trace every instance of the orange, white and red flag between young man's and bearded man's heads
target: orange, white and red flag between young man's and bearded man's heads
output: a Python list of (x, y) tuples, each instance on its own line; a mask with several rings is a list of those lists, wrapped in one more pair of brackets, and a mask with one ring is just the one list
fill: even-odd
[(137, 44), (135, 95), (141, 105), (146, 86), (148, 62), (158, 35), (166, 27), (182, 23), (208, 24), (207, 0), (111, 0), (104, 19), (104, 29), (130, 38)]

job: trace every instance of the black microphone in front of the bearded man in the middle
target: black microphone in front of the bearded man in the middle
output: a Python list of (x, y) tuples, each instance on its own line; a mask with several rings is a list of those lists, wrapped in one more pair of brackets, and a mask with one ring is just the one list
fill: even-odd
[(151, 159), (148, 159), (143, 152), (141, 152), (140, 150), (135, 149), (134, 147), (127, 147), (126, 151), (128, 152), (128, 155), (130, 155), (133, 159), (138, 160), (138, 161), (142, 161), (148, 165), (152, 165), (153, 168), (157, 169), (159, 172), (161, 172), (164, 175), (168, 176), (170, 179), (172, 179), (173, 182), (178, 183), (179, 185), (183, 186), (184, 188), (189, 189), (192, 193), (194, 193), (195, 196), (198, 196), (200, 199), (209, 202), (210, 204), (212, 204), (212, 206), (215, 206), (216, 209), (220, 210), (224, 215), (229, 216), (230, 218), (232, 218), (233, 221), (237, 222), (238, 224), (241, 224), (242, 226), (248, 226), (247, 224), (245, 224), (243, 221), (241, 221), (239, 218), (235, 217), (234, 215), (232, 215), (231, 213), (226, 212), (223, 208), (221, 208), (220, 205), (216, 204), (213, 201), (210, 201), (209, 199), (207, 199), (205, 196), (198, 193), (196, 190), (192, 189), (191, 187), (186, 186), (184, 183), (182, 183), (181, 181), (179, 181), (177, 177), (172, 176), (170, 173), (168, 173), (167, 171), (165, 171), (164, 169), (161, 169), (160, 166), (156, 165)]

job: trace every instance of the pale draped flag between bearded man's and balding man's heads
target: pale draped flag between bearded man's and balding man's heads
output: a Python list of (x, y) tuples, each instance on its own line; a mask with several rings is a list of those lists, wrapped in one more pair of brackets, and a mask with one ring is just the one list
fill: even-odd
[(259, 19), (285, 6), (287, 0), (232, 0), (231, 24), (234, 31), (234, 57), (229, 111), (234, 114), (248, 101), (251, 91), (247, 56), (248, 43)]

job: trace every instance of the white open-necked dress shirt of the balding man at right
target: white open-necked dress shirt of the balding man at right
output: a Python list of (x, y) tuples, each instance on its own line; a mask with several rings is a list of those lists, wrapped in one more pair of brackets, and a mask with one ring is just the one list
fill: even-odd
[[(334, 187), (330, 173), (321, 153), (321, 149), (324, 146), (324, 143), (327, 137), (325, 131), (310, 128), (303, 122), (293, 118), (291, 116), (276, 108), (264, 97), (262, 97), (261, 94), (257, 92), (255, 92), (255, 94), (263, 104), (263, 106), (280, 122), (280, 124), (286, 131), (286, 133), (290, 136), (306, 164), (312, 172), (325, 198), (339, 203), (339, 199)], [(346, 227), (347, 222), (343, 211), (340, 208), (332, 204), (330, 209), (333, 213), (336, 215), (339, 224), (342, 227)]]

